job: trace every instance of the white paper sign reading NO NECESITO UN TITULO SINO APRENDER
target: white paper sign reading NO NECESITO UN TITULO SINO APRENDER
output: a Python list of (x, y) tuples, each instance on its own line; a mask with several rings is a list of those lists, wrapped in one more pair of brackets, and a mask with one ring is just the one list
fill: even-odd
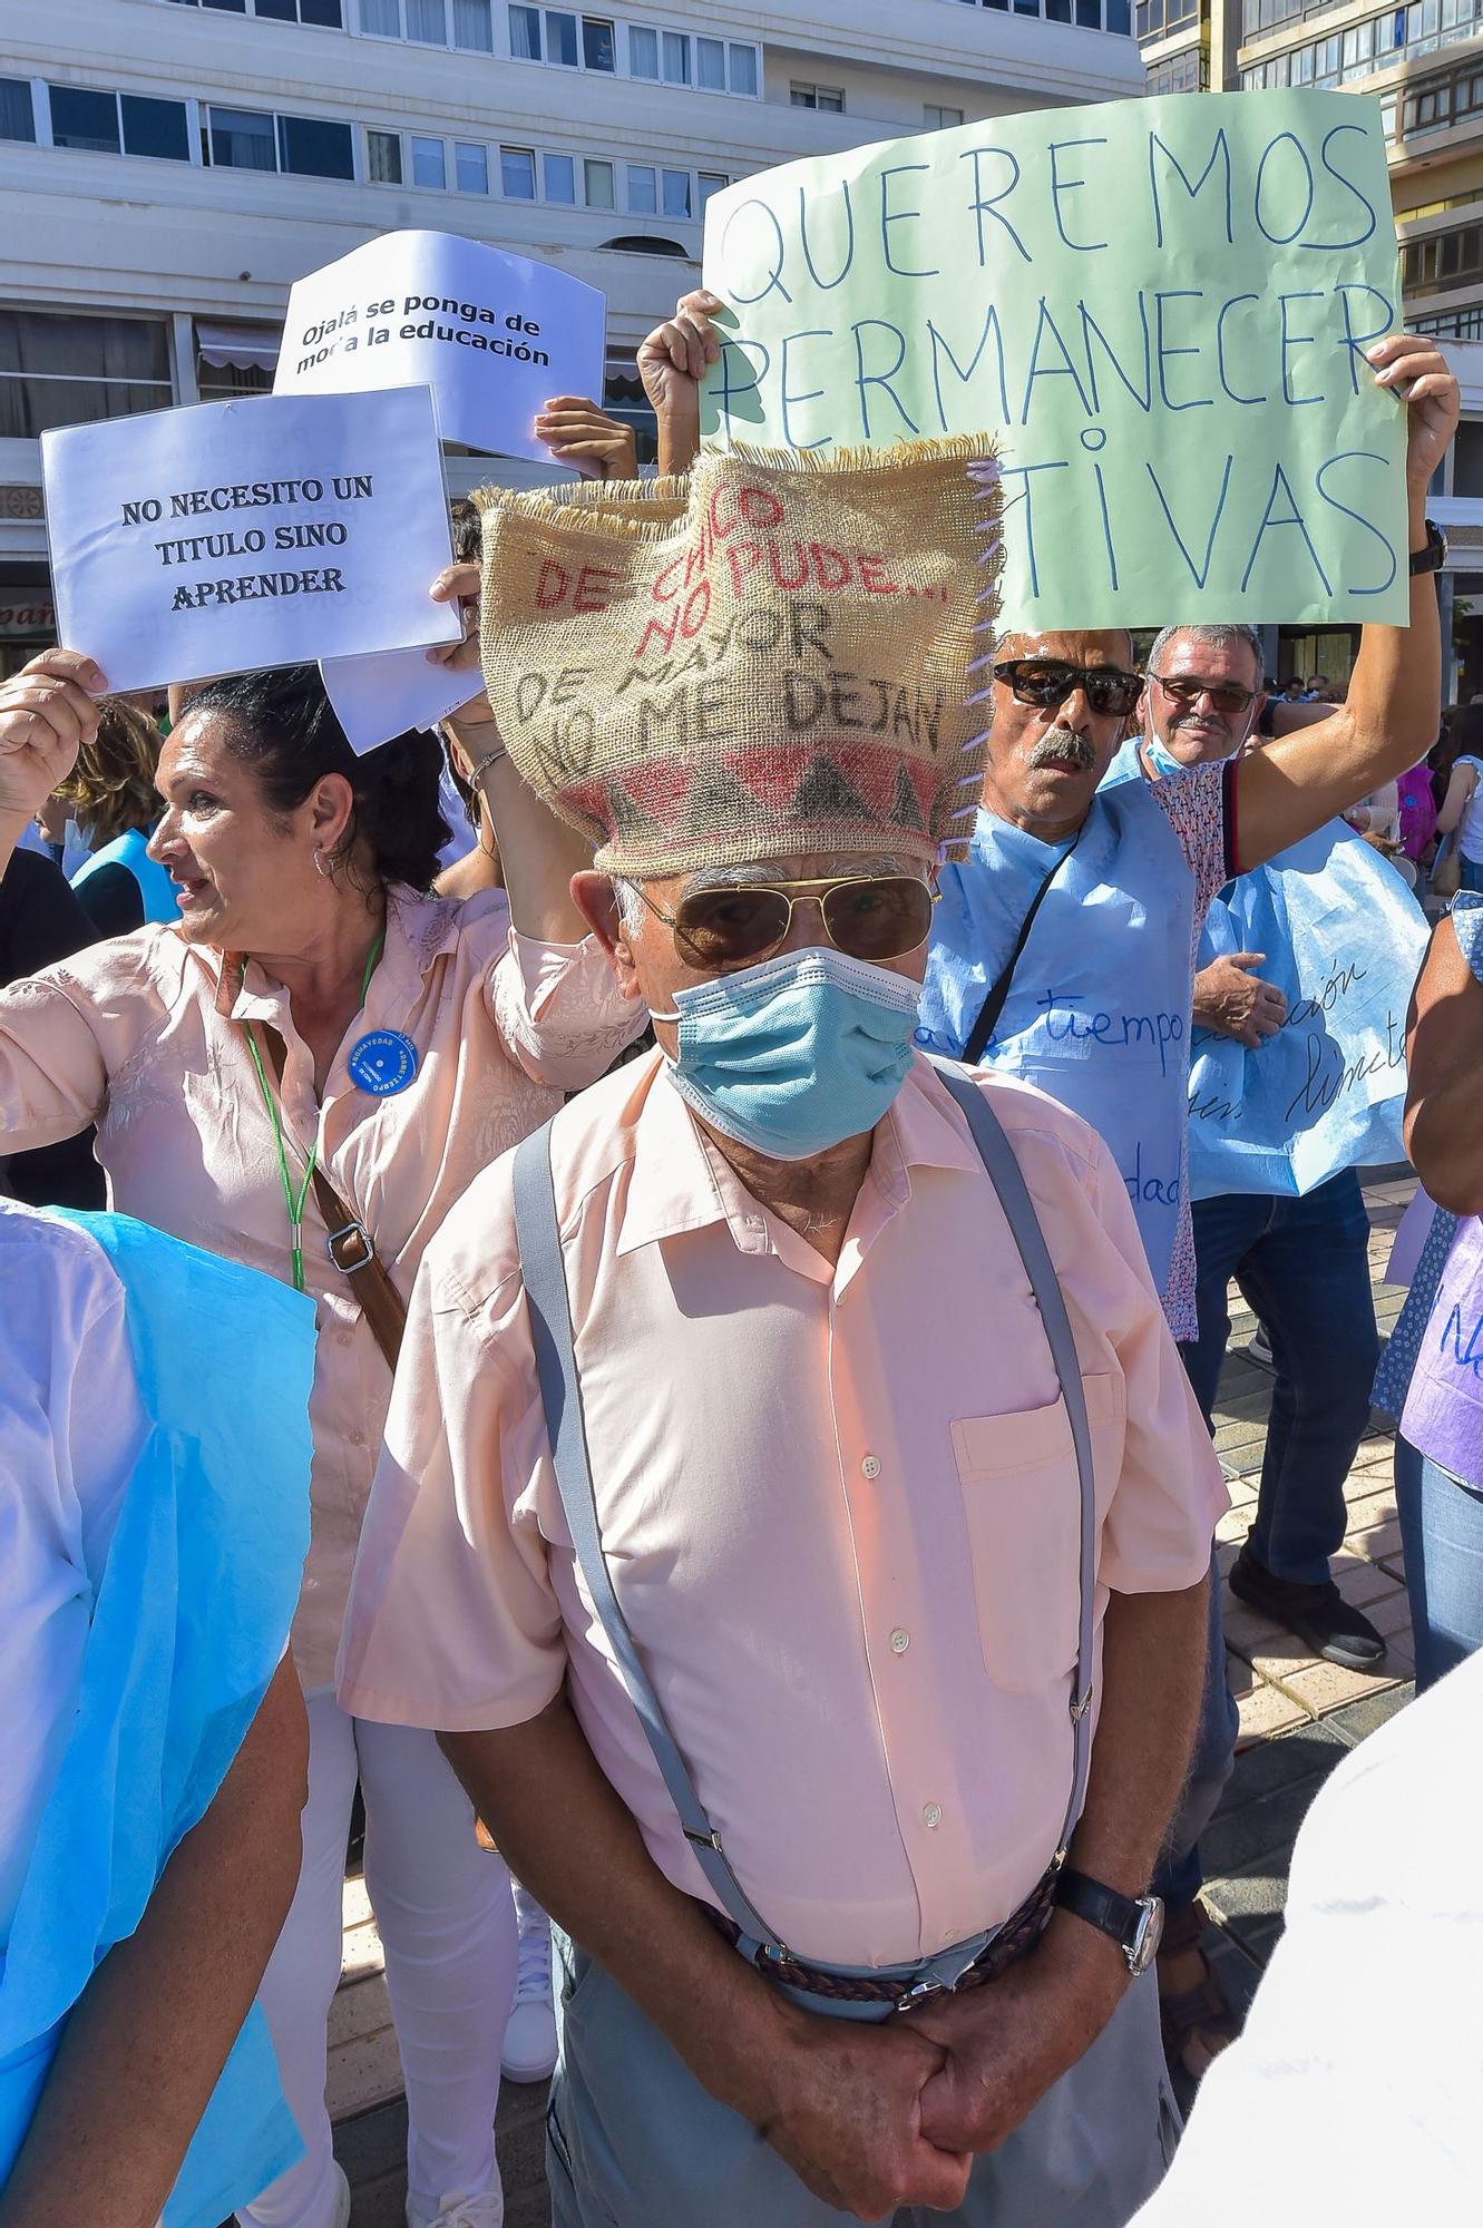
[(67, 426), (42, 479), (58, 635), (114, 691), (459, 637), (428, 388)]

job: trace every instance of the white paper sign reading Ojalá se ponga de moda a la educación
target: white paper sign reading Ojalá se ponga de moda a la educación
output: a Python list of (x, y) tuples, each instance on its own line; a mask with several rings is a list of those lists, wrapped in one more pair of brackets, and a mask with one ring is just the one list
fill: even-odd
[(445, 441), (550, 452), (534, 414), (603, 385), (606, 296), (548, 263), (456, 232), (385, 232), (289, 294), (274, 394), (365, 394), (428, 381)]

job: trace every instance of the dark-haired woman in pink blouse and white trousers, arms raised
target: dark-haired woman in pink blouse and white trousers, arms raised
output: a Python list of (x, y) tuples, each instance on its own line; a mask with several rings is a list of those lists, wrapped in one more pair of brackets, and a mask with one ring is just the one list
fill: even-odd
[[(445, 575), (434, 595), (454, 595)], [(468, 642), (445, 657), (472, 664)], [(105, 677), (49, 651), (0, 686), (0, 869), (71, 773)], [(479, 686), (472, 677), (472, 686)], [(305, 2159), (243, 2219), (343, 2228), (325, 2117), (325, 2019), (356, 1778), (365, 1883), (407, 2088), (412, 2228), (497, 2228), (499, 2054), (514, 1985), (503, 1863), (434, 1736), (345, 1716), (334, 1653), (423, 1245), (472, 1176), (599, 1076), (635, 1032), (572, 909), (581, 842), (499, 749), (505, 891), (428, 896), (439, 746), (356, 758), (312, 668), (196, 691), (160, 751), (149, 851), (176, 927), (94, 945), (0, 991), (0, 1139), (98, 1125), (109, 1203), (307, 1290), (318, 1310), (312, 1540), (294, 1624), (310, 1802), (263, 2007)], [(428, 1401), (439, 1388), (425, 1386)], [(203, 1386), (227, 1424), (232, 1357)], [(436, 1651), (439, 1638), (428, 1633)]]

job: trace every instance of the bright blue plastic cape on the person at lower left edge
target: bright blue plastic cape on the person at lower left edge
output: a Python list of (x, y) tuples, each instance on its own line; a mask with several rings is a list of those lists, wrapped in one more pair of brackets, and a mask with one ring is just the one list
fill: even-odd
[[(67, 1221), (125, 1286), (154, 1430), (118, 1511), (76, 1718), (0, 1967), (0, 2183), (69, 2010), (136, 1929), (256, 1716), (310, 1544), (314, 1303), (120, 1214)], [(301, 2148), (254, 2007), (167, 2228), (214, 2228)]]

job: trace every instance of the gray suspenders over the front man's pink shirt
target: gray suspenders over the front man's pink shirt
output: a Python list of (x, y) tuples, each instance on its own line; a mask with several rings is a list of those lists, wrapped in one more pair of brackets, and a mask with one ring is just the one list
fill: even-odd
[[(1080, 1620), (1076, 1640), (1076, 1671), (1071, 1678), (1071, 1729), (1073, 1767), (1071, 1796), (1060, 1829), (1055, 1863), (1064, 1860), (1071, 1831), (1082, 1811), (1087, 1794), (1087, 1771), (1091, 1765), (1091, 1660), (1093, 1660), (1093, 1595), (1096, 1595), (1096, 1499), (1091, 1475), (1091, 1430), (1087, 1424), (1087, 1399), (1082, 1372), (1071, 1337), (1071, 1319), (1060, 1281), (1051, 1266), (1051, 1254), (1040, 1230), (1035, 1205), (1029, 1196), (1020, 1163), (989, 1107), (984, 1092), (969, 1081), (960, 1067), (933, 1063), (942, 1083), (962, 1107), (973, 1143), (989, 1170), (993, 1188), (1004, 1210), (1011, 1237), (1018, 1245), (1024, 1274), (1029, 1277), (1040, 1323), (1055, 1361), (1060, 1397), (1067, 1404), (1071, 1444), (1076, 1448), (1076, 1473), (1080, 1484)], [(581, 1386), (577, 1379), (577, 1355), (572, 1346), (572, 1310), (566, 1290), (566, 1266), (561, 1261), (561, 1230), (557, 1223), (557, 1199), (550, 1167), (550, 1123), (519, 1145), (514, 1154), (514, 1230), (521, 1254), (521, 1277), (526, 1283), (526, 1306), (530, 1315), (530, 1337), (534, 1346), (541, 1401), (546, 1406), (546, 1430), (550, 1437), (557, 1491), (572, 1533), (572, 1548), (588, 1582), (592, 1606), (612, 1646), (628, 1698), (639, 1713), (639, 1724), (655, 1753), (670, 1800), (679, 1814), (684, 1836), (695, 1849), (701, 1872), (721, 1909), (739, 1929), (744, 1956), (757, 1950), (775, 1958), (788, 1956), (786, 1945), (768, 1927), (742, 1889), (721, 1836), (710, 1825), (690, 1769), (670, 1733), (659, 1696), (650, 1682), (644, 1660), (628, 1631), (628, 1620), (619, 1606), (603, 1555), (601, 1526), (597, 1517), (597, 1493), (588, 1459), (588, 1433), (581, 1413)], [(926, 1958), (920, 1967), (924, 1990), (953, 1987), (978, 1956), (989, 1947), (998, 1927), (975, 1934), (971, 1941), (953, 1943), (951, 1950)]]

